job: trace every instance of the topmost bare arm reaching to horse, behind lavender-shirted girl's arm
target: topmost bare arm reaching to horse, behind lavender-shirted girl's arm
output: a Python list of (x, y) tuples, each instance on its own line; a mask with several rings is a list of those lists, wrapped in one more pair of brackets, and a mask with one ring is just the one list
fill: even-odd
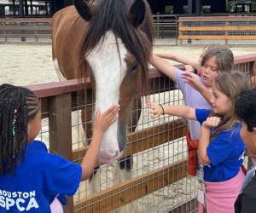
[(158, 55), (161, 58), (165, 58), (165, 59), (169, 59), (169, 60), (175, 60), (179, 63), (184, 64), (184, 65), (191, 65), (196, 70), (201, 69), (201, 63), (200, 63), (199, 60), (189, 59), (187, 57), (184, 57), (183, 55), (173, 54), (172, 52), (157, 52), (157, 53), (154, 53), (154, 54)]

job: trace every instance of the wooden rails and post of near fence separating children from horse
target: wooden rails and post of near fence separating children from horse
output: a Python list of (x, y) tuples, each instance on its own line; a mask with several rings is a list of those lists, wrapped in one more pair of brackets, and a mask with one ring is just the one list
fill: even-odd
[[(236, 70), (246, 72), (248, 75), (253, 68), (256, 54), (236, 57)], [(182, 68), (183, 66), (179, 66)], [(160, 72), (152, 69), (149, 72), (150, 91), (157, 94), (174, 89), (173, 83)], [(86, 79), (86, 88), (90, 88), (90, 81)], [(42, 101), (42, 118), (49, 118), (49, 151), (59, 153), (61, 156), (80, 162), (87, 148), (72, 148), (71, 112), (78, 105), (77, 90), (78, 80), (70, 80), (57, 83), (43, 83), (28, 86)], [(131, 147), (127, 156), (151, 147), (159, 146), (168, 141), (175, 140), (185, 135), (186, 121), (176, 119), (164, 124), (138, 130), (128, 135)], [(142, 142), (143, 141), (143, 142)], [(182, 158), (177, 162), (149, 171), (147, 174), (137, 176), (130, 181), (121, 183), (103, 190), (93, 197), (79, 199), (73, 204), (73, 198), (69, 198), (65, 206), (65, 212), (108, 212), (119, 206), (142, 198), (149, 193), (159, 190), (161, 187), (171, 185), (175, 181), (187, 176), (187, 159)], [(195, 199), (187, 200), (188, 203), (180, 204), (175, 210), (182, 212), (194, 212), (196, 209)], [(176, 211), (173, 212), (176, 212)], [(180, 212), (180, 211), (179, 211)]]

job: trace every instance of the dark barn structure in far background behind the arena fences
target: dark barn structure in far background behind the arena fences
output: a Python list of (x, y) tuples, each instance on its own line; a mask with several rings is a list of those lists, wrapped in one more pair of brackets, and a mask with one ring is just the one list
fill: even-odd
[[(153, 14), (177, 16), (253, 15), (256, 0), (147, 0)], [(0, 0), (0, 16), (51, 17), (57, 10), (71, 5), (73, 0)]]

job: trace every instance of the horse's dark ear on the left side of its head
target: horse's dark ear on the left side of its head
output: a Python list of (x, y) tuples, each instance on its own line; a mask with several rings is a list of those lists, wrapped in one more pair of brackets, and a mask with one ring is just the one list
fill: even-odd
[(79, 15), (86, 21), (90, 21), (95, 13), (96, 6), (92, 3), (87, 3), (84, 0), (73, 0), (73, 4)]

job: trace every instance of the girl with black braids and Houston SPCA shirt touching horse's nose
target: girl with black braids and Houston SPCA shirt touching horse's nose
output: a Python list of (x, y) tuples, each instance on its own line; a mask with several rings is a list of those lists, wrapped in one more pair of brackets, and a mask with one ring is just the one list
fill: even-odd
[(62, 212), (55, 197), (73, 195), (79, 182), (90, 177), (102, 135), (118, 118), (118, 112), (119, 106), (102, 114), (96, 111), (89, 150), (81, 164), (74, 164), (48, 153), (43, 142), (34, 141), (41, 130), (41, 110), (40, 101), (32, 91), (1, 85), (0, 212)]

